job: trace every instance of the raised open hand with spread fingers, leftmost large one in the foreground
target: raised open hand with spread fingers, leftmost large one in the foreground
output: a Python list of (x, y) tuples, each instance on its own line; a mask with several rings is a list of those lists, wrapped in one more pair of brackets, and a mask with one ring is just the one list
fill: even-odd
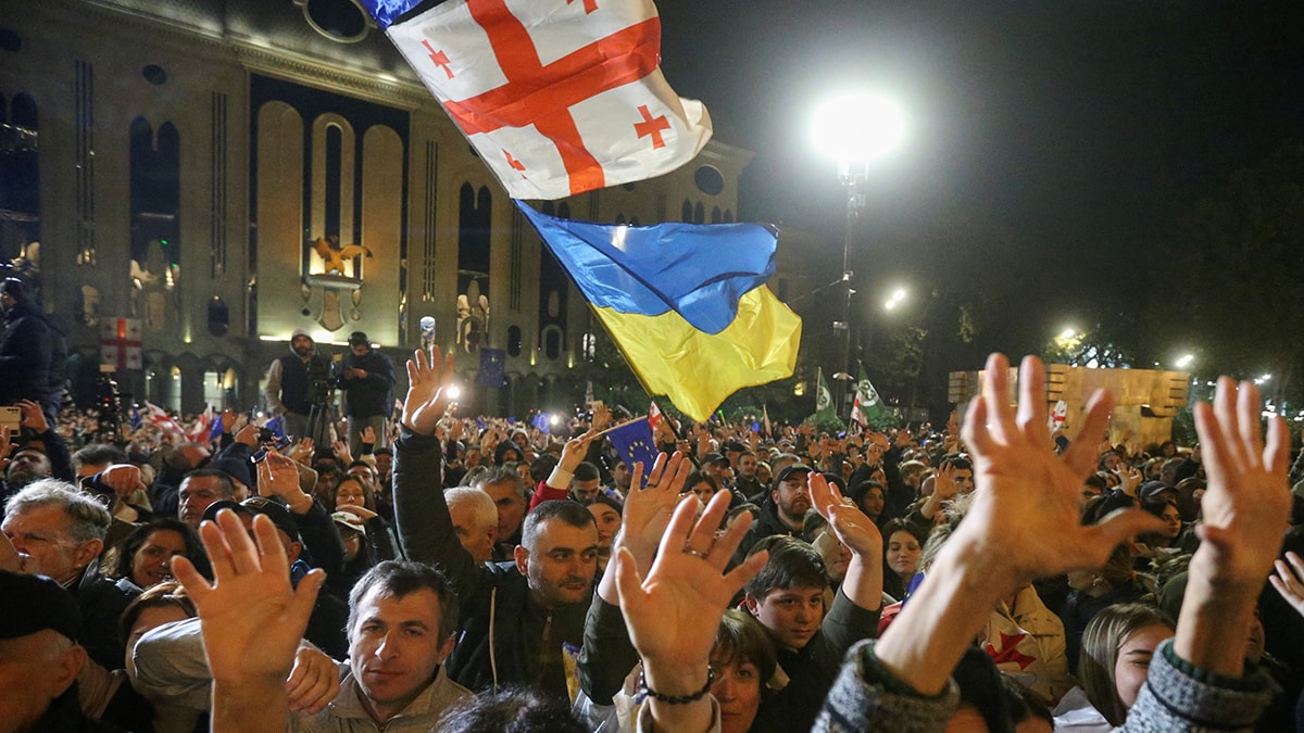
[(292, 588), (275, 524), (257, 515), (253, 533), (230, 510), (200, 527), (213, 562), (211, 586), (189, 560), (172, 558), (172, 574), (200, 612), (214, 681), (214, 730), (284, 728), (286, 678), (326, 578), (313, 570)]

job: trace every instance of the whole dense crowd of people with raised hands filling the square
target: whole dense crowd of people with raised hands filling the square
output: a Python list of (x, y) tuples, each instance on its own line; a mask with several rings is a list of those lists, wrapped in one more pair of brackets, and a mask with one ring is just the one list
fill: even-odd
[(451, 415), (437, 348), (390, 421), (269, 406), (316, 441), (21, 400), (0, 732), (1304, 730), (1304, 462), (1254, 386), (1181, 450), (1102, 442), (1107, 395), (1052, 436), (1007, 370), (939, 429), (664, 416), (651, 466), (602, 407)]

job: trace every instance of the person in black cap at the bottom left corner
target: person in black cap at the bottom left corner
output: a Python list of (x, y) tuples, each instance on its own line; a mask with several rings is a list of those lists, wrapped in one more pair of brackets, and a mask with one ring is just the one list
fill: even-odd
[(77, 700), (86, 650), (73, 596), (50, 578), (0, 570), (0, 730), (116, 730)]

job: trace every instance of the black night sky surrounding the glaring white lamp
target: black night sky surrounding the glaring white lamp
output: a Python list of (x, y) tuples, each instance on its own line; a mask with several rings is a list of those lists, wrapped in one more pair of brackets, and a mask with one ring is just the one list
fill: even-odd
[(994, 260), (1061, 280), (1037, 291), (1038, 316), (1011, 313), (1020, 334), (990, 329), (983, 348), (1024, 346), (1093, 300), (1127, 308), (1162, 277), (1157, 253), (1180, 247), (1194, 202), (1304, 137), (1299, 1), (657, 7), (670, 85), (705, 102), (720, 140), (758, 151), (745, 220), (827, 231), (840, 256), (841, 197), (810, 111), (844, 89), (900, 100), (908, 140), (872, 171), (855, 256), (926, 283), (949, 254), (911, 260), (901, 243), (961, 213), (1008, 235)]

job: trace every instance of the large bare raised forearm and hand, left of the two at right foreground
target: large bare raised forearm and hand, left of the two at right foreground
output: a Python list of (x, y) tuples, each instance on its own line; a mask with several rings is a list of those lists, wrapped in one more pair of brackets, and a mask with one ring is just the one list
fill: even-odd
[[(1024, 360), (1017, 415), (1011, 403), (1008, 363), (992, 355), (964, 428), (974, 456), (973, 505), (874, 648), (887, 672), (922, 695), (943, 691), (999, 599), (1034, 578), (1099, 567), (1115, 546), (1158, 524), (1132, 510), (1081, 526), (1077, 500), (1094, 464), (1094, 446), (1076, 441), (1063, 459), (1047, 449), (1039, 360)], [(1093, 395), (1084, 434), (1102, 432), (1108, 407), (1108, 395)]]

